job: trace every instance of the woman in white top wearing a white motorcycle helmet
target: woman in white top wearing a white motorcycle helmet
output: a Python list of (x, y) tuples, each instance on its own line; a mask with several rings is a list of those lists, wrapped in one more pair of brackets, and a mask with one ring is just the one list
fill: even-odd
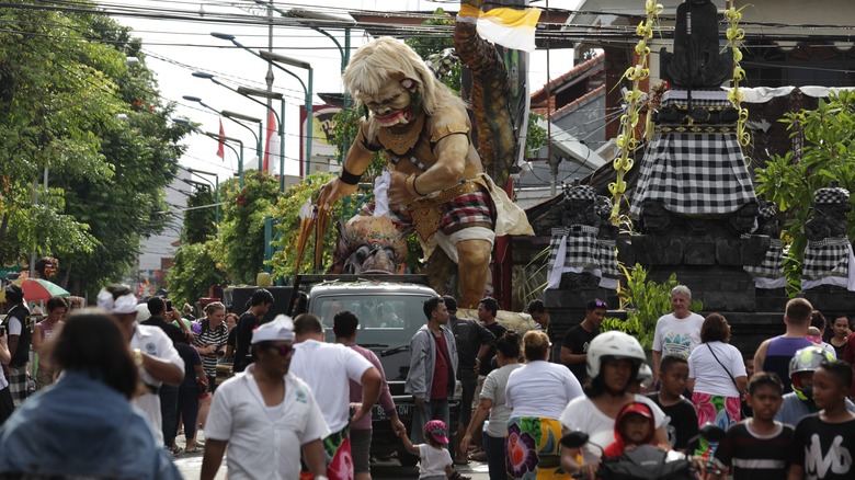
[[(649, 398), (628, 391), (646, 359), (638, 340), (624, 332), (604, 332), (591, 341), (585, 358), (590, 378), (585, 395), (573, 399), (561, 413), (563, 433), (584, 432), (589, 435), (589, 443), (581, 448), (561, 449), (561, 468), (565, 471), (581, 472), (585, 479), (595, 478), (602, 449), (615, 439), (615, 419), (630, 402), (641, 402), (650, 408), (656, 425), (653, 441), (670, 448), (662, 409)], [(578, 461), (580, 454), (581, 464)]]

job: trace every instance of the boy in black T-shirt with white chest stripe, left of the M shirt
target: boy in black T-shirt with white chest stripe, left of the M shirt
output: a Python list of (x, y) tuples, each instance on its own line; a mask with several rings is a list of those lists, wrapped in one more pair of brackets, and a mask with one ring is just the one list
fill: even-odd
[[(716, 466), (730, 468), (733, 480), (785, 480), (787, 454), (793, 427), (775, 421), (780, 408), (784, 384), (777, 375), (763, 372), (748, 386), (748, 403), (754, 416), (728, 430), (723, 445), (716, 452)], [(721, 479), (726, 478), (721, 473)]]

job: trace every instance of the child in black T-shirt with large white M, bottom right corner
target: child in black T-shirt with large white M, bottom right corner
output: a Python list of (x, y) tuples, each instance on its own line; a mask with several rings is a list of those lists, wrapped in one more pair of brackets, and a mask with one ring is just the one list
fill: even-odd
[(789, 480), (855, 478), (855, 413), (846, 409), (852, 366), (823, 362), (813, 373), (813, 401), (818, 414), (801, 419), (789, 449)]

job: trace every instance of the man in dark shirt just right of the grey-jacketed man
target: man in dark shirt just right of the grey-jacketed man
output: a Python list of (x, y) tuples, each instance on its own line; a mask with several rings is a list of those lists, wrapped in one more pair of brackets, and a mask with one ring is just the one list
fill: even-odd
[[(487, 356), (490, 347), (495, 346), (495, 336), (482, 324), (470, 319), (457, 318), (457, 300), (451, 295), (443, 296), (448, 309), (448, 325), (452, 327), (455, 343), (457, 343), (457, 379), (463, 387), (460, 422), (457, 424), (455, 441), (463, 438), (469, 420), (472, 416), (472, 400), (478, 385), (478, 370), (481, 358)], [(498, 323), (497, 323), (498, 324)], [(489, 361), (489, 359), (488, 359)], [(458, 464), (466, 464), (466, 456), (455, 448)]]

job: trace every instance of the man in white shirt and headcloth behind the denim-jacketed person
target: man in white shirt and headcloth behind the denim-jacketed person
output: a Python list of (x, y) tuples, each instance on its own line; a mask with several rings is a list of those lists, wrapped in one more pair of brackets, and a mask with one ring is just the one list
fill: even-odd
[(134, 400), (149, 420), (155, 436), (163, 443), (163, 418), (160, 413), (158, 390), (163, 384), (178, 386), (184, 380), (184, 361), (172, 340), (158, 327), (137, 324), (137, 298), (125, 286), (111, 285), (98, 294), (98, 306), (118, 321), (125, 338), (134, 350), (139, 365), (139, 377), (146, 393)]

